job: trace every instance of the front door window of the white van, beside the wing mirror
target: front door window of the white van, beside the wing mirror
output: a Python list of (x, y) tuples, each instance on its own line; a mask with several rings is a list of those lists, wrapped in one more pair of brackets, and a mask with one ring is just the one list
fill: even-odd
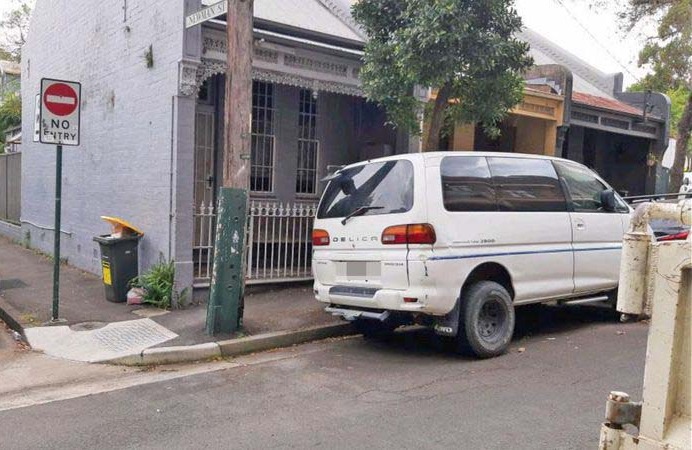
[(601, 207), (601, 192), (608, 188), (591, 171), (576, 164), (560, 161), (555, 161), (555, 168), (565, 181), (569, 201), (574, 211), (604, 212)]

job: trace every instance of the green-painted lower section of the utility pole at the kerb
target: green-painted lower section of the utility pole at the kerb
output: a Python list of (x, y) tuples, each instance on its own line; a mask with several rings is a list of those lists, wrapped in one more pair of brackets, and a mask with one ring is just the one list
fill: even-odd
[(207, 334), (233, 333), (243, 320), (247, 191), (222, 187), (216, 215), (216, 240), (207, 303)]

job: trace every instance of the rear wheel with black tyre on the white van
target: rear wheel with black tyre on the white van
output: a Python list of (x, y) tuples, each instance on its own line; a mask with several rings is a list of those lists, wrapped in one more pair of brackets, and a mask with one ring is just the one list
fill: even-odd
[(480, 281), (461, 294), (457, 351), (492, 358), (507, 351), (514, 334), (514, 305), (507, 289)]

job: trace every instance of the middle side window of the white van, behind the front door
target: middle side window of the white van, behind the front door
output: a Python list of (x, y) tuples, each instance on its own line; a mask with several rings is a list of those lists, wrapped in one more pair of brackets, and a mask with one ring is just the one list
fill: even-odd
[(493, 157), (488, 164), (500, 211), (567, 211), (549, 160)]

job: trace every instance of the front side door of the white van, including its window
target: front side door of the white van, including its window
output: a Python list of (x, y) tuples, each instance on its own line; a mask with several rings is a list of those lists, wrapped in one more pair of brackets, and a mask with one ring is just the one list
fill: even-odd
[(575, 292), (613, 289), (620, 275), (623, 216), (629, 214), (627, 205), (623, 202), (616, 212), (603, 210), (601, 192), (608, 186), (581, 165), (556, 161), (555, 166), (572, 209)]

